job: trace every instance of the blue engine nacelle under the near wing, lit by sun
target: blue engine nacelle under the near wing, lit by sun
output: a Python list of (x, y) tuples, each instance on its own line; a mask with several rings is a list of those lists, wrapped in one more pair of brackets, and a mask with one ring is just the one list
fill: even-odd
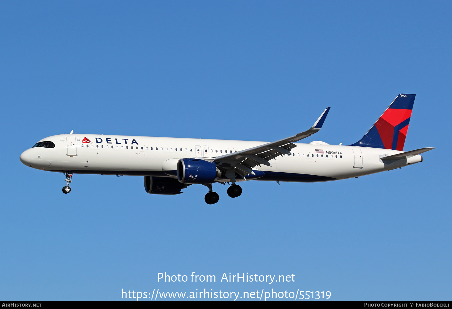
[(201, 159), (180, 159), (177, 163), (177, 179), (181, 183), (214, 183), (221, 171), (213, 162)]

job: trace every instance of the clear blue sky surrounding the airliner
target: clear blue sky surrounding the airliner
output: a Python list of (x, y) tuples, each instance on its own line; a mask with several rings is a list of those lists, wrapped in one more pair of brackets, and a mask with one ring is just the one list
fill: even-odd
[[(151, 291), (331, 291), (331, 300), (450, 300), (451, 3), (2, 1), (0, 299), (120, 300)], [(414, 166), (328, 183), (146, 194), (142, 177), (30, 169), (68, 133), (352, 144), (417, 94)], [(441, 159), (441, 160), (440, 160)], [(159, 283), (157, 273), (296, 275)]]

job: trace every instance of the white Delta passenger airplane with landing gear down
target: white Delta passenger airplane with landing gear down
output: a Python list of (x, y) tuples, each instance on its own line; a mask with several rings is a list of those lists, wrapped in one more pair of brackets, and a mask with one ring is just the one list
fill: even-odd
[(64, 173), (64, 193), (73, 174), (144, 176), (147, 193), (175, 195), (192, 184), (208, 187), (204, 197), (215, 204), (213, 183), (228, 183), (227, 194), (239, 197), (237, 184), (250, 180), (323, 182), (379, 173), (423, 161), (433, 147), (403, 151), (415, 94), (399, 94), (361, 140), (351, 145), (297, 141), (320, 131), (326, 108), (307, 131), (274, 142), (173, 137), (61, 134), (46, 137), (20, 155), (20, 161), (44, 171)]

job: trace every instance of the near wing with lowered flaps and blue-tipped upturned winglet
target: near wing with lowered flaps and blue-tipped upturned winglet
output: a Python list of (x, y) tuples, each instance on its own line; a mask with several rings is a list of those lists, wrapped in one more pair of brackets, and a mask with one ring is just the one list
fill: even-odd
[(215, 157), (213, 161), (218, 163), (220, 168), (226, 169), (226, 177), (230, 178), (232, 181), (235, 181), (235, 173), (238, 173), (242, 177), (245, 177), (248, 174), (254, 175), (254, 166), (260, 166), (261, 164), (271, 166), (268, 160), (275, 159), (282, 154), (292, 155), (290, 150), (296, 147), (296, 145), (292, 143), (320, 131), (329, 111), (330, 108), (326, 108), (314, 125), (305, 132), (264, 145), (240, 150), (227, 155), (221, 155)]

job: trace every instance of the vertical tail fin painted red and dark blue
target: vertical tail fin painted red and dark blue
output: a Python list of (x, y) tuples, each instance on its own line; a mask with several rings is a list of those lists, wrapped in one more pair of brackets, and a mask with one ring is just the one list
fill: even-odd
[(403, 150), (415, 94), (399, 94), (361, 140), (351, 146)]

